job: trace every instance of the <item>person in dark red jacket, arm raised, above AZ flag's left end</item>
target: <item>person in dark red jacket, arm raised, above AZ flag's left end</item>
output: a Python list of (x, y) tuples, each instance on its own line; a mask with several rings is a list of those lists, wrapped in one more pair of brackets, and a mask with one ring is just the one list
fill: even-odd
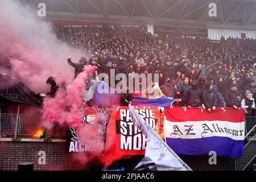
[(171, 78), (167, 77), (163, 85), (160, 86), (160, 89), (163, 91), (164, 96), (174, 97), (174, 86), (180, 80), (180, 72), (177, 75), (175, 81), (171, 81)]

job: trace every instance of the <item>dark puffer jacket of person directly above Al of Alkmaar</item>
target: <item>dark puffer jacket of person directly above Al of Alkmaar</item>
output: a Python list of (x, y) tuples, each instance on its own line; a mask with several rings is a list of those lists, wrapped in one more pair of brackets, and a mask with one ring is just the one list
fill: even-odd
[(203, 91), (203, 104), (207, 109), (218, 106), (218, 100), (213, 90), (205, 89)]

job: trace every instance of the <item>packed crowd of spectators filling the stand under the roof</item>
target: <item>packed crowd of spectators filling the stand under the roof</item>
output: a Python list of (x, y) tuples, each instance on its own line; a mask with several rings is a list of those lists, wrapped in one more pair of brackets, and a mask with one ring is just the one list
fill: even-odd
[[(87, 59), (68, 63), (75, 77), (84, 65), (99, 73), (115, 69), (125, 73), (158, 73), (160, 89), (176, 98), (179, 106), (246, 108), (254, 115), (256, 99), (256, 40), (225, 38), (220, 41), (180, 34), (158, 37), (139, 27), (56, 26), (56, 35), (69, 46), (79, 48)], [(160, 42), (159, 42), (160, 40)]]

